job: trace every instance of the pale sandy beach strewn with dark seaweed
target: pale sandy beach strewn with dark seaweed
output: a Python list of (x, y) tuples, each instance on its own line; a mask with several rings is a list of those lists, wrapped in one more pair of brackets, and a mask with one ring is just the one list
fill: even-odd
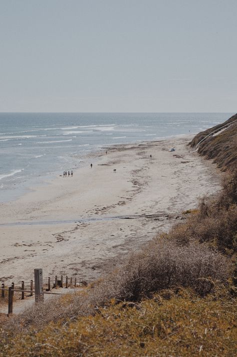
[(167, 231), (198, 197), (219, 189), (215, 166), (191, 152), (190, 139), (105, 148), (73, 177), (1, 204), (0, 280), (30, 280), (43, 268), (44, 277), (92, 281)]

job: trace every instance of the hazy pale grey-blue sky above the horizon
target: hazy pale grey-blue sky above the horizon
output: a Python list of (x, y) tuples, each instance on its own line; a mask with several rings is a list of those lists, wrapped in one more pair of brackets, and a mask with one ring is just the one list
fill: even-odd
[(236, 0), (0, 0), (1, 112), (236, 112)]

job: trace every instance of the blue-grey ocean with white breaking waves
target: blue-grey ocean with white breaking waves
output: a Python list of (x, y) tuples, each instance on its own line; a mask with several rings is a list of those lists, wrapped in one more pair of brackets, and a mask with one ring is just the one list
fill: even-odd
[(9, 202), (106, 145), (195, 134), (232, 113), (0, 113), (0, 202)]

